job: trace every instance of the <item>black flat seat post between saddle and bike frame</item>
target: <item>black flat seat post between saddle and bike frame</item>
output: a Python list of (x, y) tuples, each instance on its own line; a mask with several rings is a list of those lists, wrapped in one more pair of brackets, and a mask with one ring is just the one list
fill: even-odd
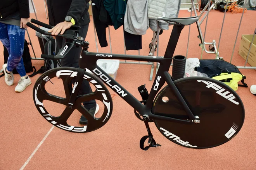
[(174, 25), (173, 30), (171, 31), (171, 36), (168, 42), (168, 45), (166, 47), (166, 51), (164, 53), (164, 58), (172, 58), (176, 45), (178, 43), (180, 33), (182, 29), (184, 28), (184, 25)]

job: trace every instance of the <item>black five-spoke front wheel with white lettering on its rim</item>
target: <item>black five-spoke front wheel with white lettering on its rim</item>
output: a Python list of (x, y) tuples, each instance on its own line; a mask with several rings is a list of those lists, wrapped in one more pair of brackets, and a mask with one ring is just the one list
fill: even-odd
[[(43, 73), (35, 83), (33, 99), (40, 114), (54, 126), (71, 132), (85, 133), (101, 128), (107, 123), (112, 113), (112, 98), (106, 86), (96, 76), (85, 71), (83, 84), (76, 102), (69, 107), (69, 98), (78, 69), (59, 67)], [(87, 84), (87, 89), (85, 85)], [(89, 93), (88, 85), (92, 90)], [(99, 105), (97, 113), (92, 113), (90, 106)], [(74, 116), (72, 117), (71, 115)], [(81, 115), (88, 124), (80, 125)], [(72, 125), (71, 125), (72, 124)]]

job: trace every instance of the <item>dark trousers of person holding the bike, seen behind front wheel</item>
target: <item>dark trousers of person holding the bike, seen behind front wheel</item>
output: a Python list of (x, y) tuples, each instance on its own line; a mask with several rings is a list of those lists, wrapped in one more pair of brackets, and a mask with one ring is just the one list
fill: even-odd
[[(81, 36), (85, 39), (87, 31), (88, 31), (88, 27), (89, 27), (89, 24), (87, 24), (85, 26), (81, 26), (81, 28), (79, 30), (79, 36)], [(65, 43), (65, 39), (63, 39), (61, 37), (56, 37), (56, 41), (57, 41), (58, 48), (61, 49), (61, 47)], [(73, 46), (73, 48), (69, 51), (69, 53), (67, 53), (66, 56), (61, 59), (61, 66), (78, 68), (78, 61), (80, 58), (81, 50), (82, 50), (81, 47), (76, 48), (75, 46)], [(73, 84), (74, 84), (74, 82), (73, 82)], [(87, 94), (87, 93), (92, 93), (92, 89), (90, 87), (89, 82), (87, 80), (83, 80), (83, 83), (81, 85), (78, 95), (83, 95), (83, 94)], [(90, 109), (90, 108), (96, 106), (96, 101), (90, 100), (88, 102), (83, 102), (83, 105), (86, 109)]]

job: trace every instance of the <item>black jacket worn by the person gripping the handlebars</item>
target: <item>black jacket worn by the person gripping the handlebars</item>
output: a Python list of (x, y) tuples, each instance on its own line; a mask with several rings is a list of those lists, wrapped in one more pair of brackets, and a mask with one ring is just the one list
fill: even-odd
[(76, 25), (84, 26), (90, 22), (88, 0), (47, 0), (47, 7), (52, 26), (64, 22), (67, 15), (73, 17)]

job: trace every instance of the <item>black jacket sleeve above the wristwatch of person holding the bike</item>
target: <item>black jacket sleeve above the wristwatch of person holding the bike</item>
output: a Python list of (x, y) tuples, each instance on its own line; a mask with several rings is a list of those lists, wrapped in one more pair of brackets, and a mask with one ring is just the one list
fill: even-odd
[[(81, 19), (85, 10), (88, 10), (88, 0), (72, 0), (67, 15), (71, 16), (76, 23)], [(66, 16), (67, 16), (66, 15)]]

